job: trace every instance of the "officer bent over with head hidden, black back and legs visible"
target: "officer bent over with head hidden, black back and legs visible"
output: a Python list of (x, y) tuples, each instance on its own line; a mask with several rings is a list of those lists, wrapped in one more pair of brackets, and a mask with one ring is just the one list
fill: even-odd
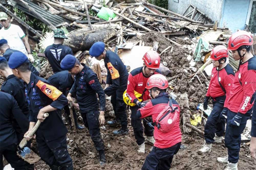
[[(68, 71), (60, 71), (52, 76), (49, 77), (48, 81), (55, 86), (57, 89), (59, 89), (65, 96), (68, 95), (69, 89), (72, 87), (74, 83), (74, 76), (70, 74)], [(71, 118), (69, 117), (70, 115), (70, 110), (68, 105), (64, 107), (64, 111), (68, 117), (68, 122), (71, 125)], [(80, 126), (77, 123), (77, 114), (76, 110), (74, 107), (72, 107), (73, 111), (73, 116), (74, 116), (74, 121), (77, 129), (83, 129), (83, 126)]]

